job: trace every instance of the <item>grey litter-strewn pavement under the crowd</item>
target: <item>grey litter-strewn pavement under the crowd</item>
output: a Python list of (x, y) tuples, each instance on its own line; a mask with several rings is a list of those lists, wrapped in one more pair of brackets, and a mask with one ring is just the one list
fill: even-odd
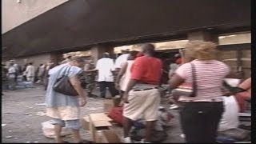
[[(53, 138), (46, 138), (42, 135), (41, 123), (50, 120), (50, 118), (44, 115), (46, 112), (46, 106), (44, 105), (45, 91), (42, 86), (3, 92), (3, 94), (2, 142), (54, 142)], [(94, 94), (99, 94), (97, 88)], [(81, 116), (103, 112), (102, 100), (102, 98), (88, 98), (86, 106), (82, 107)], [(168, 108), (166, 104), (162, 106)], [(184, 142), (180, 137), (182, 132), (178, 122), (177, 110), (171, 110), (171, 112), (175, 118), (172, 120), (172, 126), (168, 128), (166, 143)], [(122, 127), (117, 127), (117, 129), (122, 132)], [(90, 139), (90, 134), (86, 130), (82, 130), (81, 135), (84, 139)], [(72, 141), (71, 138), (65, 139), (70, 142)]]

